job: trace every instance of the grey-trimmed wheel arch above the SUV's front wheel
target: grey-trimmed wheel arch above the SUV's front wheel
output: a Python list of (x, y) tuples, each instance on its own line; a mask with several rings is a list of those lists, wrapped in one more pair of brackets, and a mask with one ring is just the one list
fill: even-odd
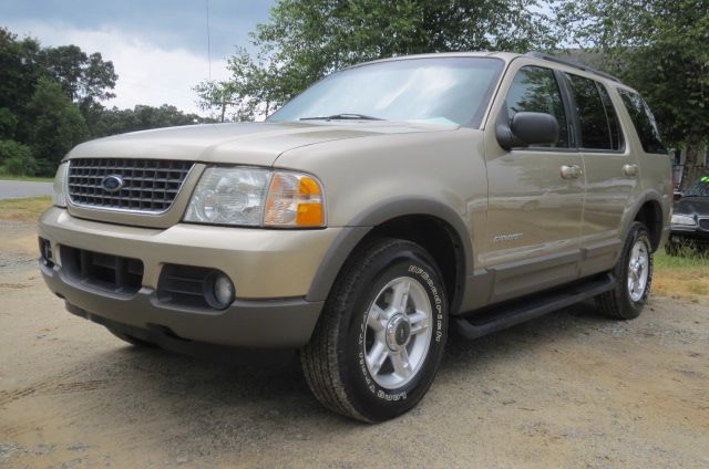
[(327, 251), (306, 300), (325, 300), (352, 251), (371, 237), (407, 239), (422, 246), (441, 269), (451, 312), (458, 311), (471, 269), (469, 230), (449, 206), (417, 198), (382, 201), (354, 217)]

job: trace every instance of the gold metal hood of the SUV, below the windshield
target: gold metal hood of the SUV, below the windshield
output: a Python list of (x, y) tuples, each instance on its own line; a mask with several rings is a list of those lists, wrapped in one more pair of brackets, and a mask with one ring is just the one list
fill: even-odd
[(76, 146), (64, 158), (165, 158), (271, 166), (281, 153), (307, 145), (456, 128), (388, 121), (203, 124), (100, 138)]

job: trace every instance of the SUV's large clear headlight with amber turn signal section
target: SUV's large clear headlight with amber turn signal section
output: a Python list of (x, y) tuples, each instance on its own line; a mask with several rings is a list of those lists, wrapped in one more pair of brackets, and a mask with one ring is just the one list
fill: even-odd
[(312, 176), (264, 168), (207, 168), (185, 221), (246, 227), (325, 226), (322, 188)]

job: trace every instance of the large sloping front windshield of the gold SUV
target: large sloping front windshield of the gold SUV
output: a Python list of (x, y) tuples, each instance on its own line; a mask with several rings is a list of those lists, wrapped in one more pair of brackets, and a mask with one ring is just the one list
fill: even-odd
[(271, 122), (378, 118), (479, 127), (504, 63), (492, 58), (407, 59), (319, 81)]

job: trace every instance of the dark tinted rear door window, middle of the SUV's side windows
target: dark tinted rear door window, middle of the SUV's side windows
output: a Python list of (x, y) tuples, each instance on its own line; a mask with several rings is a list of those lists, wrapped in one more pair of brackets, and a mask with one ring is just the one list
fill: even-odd
[(567, 73), (580, 124), (580, 146), (618, 150), (623, 143), (610, 96), (595, 80)]

